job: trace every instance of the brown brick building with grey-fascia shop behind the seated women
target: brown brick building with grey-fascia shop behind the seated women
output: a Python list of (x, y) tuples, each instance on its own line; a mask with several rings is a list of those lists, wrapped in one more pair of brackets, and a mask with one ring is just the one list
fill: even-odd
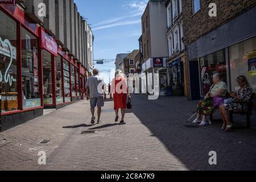
[[(210, 3), (217, 16), (209, 16)], [(256, 51), (256, 1), (183, 1), (184, 43), (188, 52), (191, 99), (203, 97), (212, 75), (222, 73), (229, 90), (238, 89), (236, 77), (245, 75), (254, 92), (256, 79), (249, 59)]]

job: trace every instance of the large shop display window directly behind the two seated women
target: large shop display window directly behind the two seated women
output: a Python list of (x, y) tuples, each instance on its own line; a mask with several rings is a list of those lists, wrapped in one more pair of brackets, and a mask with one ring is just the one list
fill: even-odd
[[(228, 59), (227, 59), (228, 58)], [(246, 76), (256, 92), (256, 36), (199, 58), (201, 97), (209, 92), (214, 73), (221, 73), (229, 91), (239, 89), (238, 76)]]

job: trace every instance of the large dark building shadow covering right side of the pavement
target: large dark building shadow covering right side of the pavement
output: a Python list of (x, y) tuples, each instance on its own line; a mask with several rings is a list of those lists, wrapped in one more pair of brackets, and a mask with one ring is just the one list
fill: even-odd
[[(196, 109), (195, 101), (185, 97), (147, 100), (133, 95), (133, 113), (190, 170), (255, 170), (256, 129), (222, 131), (222, 123), (206, 127), (186, 123)], [(220, 117), (216, 113), (217, 117)], [(255, 119), (251, 121), (255, 126)], [(216, 151), (217, 165), (210, 166), (209, 152)]]

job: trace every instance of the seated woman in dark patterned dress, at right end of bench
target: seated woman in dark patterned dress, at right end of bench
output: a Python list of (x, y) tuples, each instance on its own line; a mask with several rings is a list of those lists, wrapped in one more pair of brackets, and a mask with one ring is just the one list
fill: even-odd
[(230, 96), (234, 98), (234, 101), (232, 103), (220, 106), (220, 113), (224, 122), (221, 129), (225, 131), (230, 131), (233, 127), (232, 123), (229, 120), (228, 111), (247, 110), (248, 105), (246, 104), (246, 102), (250, 101), (250, 98), (253, 94), (253, 89), (251, 88), (245, 76), (238, 76), (237, 84), (240, 86), (240, 89), (237, 91), (237, 93), (230, 93)]

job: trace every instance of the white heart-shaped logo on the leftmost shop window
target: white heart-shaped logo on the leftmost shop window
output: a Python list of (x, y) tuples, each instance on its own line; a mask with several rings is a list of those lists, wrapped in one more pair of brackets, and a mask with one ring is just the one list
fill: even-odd
[[(9, 50), (7, 48), (9, 48)], [(9, 52), (10, 52), (10, 55), (9, 55)], [(5, 71), (4, 78), (5, 78), (5, 82), (6, 83), (9, 82), (9, 85), (12, 86), (13, 82), (16, 82), (16, 79), (13, 76), (11, 76), (10, 73), (8, 73), (8, 71), (11, 67), (11, 64), (13, 63), (13, 58), (15, 56), (14, 47), (11, 46), (11, 43), (8, 39), (2, 40), (1, 37), (0, 37), (0, 54), (10, 57), (10, 63)], [(2, 81), (3, 81), (3, 75), (2, 75), (2, 71), (0, 71), (0, 82)]]

